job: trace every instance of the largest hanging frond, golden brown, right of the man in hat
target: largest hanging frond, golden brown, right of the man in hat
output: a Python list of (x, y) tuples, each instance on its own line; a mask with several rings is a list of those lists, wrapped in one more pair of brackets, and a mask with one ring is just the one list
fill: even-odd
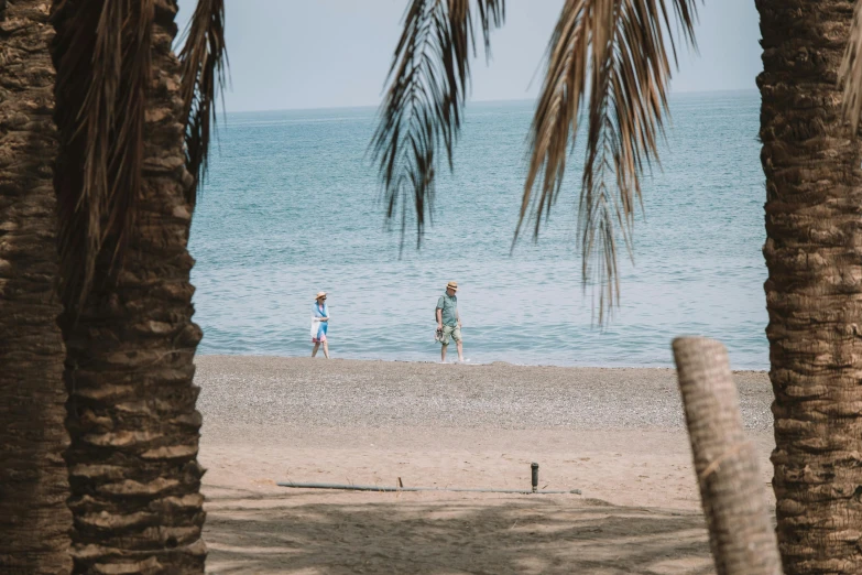
[(658, 159), (672, 73), (668, 56), (676, 64), (672, 20), (695, 46), (696, 19), (696, 0), (567, 0), (548, 44), (515, 240), (531, 217), (538, 237), (586, 112), (578, 236), (585, 286), (593, 259), (598, 268), (599, 324), (619, 300), (617, 229), (631, 253), (641, 174)]

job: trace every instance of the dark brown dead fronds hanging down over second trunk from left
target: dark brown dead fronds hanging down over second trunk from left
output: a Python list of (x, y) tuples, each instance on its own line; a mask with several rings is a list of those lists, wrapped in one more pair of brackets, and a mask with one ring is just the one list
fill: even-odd
[[(122, 262), (143, 170), (154, 0), (55, 0), (61, 293), (79, 308), (103, 250)], [(106, 240), (110, 239), (110, 246)]]

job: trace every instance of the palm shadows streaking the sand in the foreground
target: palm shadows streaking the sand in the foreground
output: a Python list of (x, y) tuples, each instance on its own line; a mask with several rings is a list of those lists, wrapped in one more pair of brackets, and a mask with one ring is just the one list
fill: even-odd
[(713, 573), (697, 512), (566, 497), (217, 497), (208, 572)]

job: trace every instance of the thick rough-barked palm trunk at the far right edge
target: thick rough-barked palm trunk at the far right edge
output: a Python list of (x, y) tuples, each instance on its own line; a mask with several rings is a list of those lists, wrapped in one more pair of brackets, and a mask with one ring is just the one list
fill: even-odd
[(765, 284), (786, 573), (862, 573), (862, 171), (837, 70), (853, 2), (757, 0)]

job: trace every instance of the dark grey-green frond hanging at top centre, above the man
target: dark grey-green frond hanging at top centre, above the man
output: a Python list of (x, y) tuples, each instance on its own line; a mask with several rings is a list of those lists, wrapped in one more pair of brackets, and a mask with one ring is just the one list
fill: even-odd
[(386, 221), (401, 209), (402, 238), (406, 202), (416, 210), (417, 245), (434, 203), (440, 147), (449, 169), (476, 55), (474, 14), (485, 54), (490, 32), (503, 23), (504, 0), (413, 0), (404, 15), (386, 82), (380, 123), (372, 138), (373, 160), (386, 205)]

